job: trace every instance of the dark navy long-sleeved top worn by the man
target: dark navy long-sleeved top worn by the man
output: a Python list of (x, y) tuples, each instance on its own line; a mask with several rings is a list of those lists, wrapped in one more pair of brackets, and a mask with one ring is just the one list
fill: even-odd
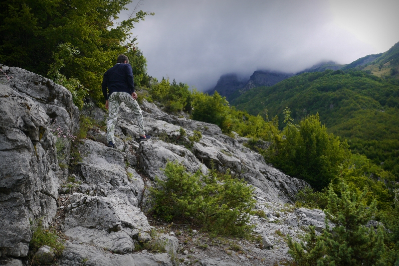
[[(107, 87), (108, 92), (107, 93)], [(108, 69), (103, 78), (101, 85), (105, 100), (113, 92), (127, 92), (132, 94), (134, 92), (134, 80), (132, 66), (124, 63), (117, 63), (115, 66)]]

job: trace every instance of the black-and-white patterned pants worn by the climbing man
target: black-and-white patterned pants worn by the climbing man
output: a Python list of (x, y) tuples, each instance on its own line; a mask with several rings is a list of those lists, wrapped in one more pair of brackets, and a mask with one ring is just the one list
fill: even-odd
[(113, 92), (108, 99), (107, 142), (115, 143), (115, 125), (118, 119), (119, 106), (122, 102), (136, 115), (140, 134), (146, 134), (144, 132), (143, 115), (137, 101), (127, 92)]

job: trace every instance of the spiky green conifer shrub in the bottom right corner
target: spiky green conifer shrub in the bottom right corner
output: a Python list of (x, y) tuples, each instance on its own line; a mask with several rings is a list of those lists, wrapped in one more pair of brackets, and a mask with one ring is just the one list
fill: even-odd
[[(332, 186), (328, 190), (326, 219), (335, 227), (326, 229), (316, 236), (314, 227), (305, 236), (306, 244), (293, 242), (288, 238), (289, 254), (300, 266), (348, 266), (348, 265), (392, 265), (384, 243), (385, 232), (379, 227), (367, 228), (366, 224), (376, 213), (377, 202), (365, 203), (367, 190), (361, 194), (351, 193), (345, 183), (341, 183), (341, 197)], [(330, 231), (331, 230), (331, 231)]]

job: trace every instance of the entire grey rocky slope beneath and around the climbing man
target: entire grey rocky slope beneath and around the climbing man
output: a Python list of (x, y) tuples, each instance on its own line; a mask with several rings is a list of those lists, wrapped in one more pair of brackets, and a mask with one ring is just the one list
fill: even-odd
[[(167, 161), (178, 160), (191, 172), (206, 173), (211, 161), (218, 171), (230, 169), (256, 188), (257, 208), (270, 213), (275, 206), (292, 203), (305, 186), (302, 180), (283, 174), (245, 147), (247, 139), (223, 135), (215, 125), (166, 114), (146, 101), (141, 108), (152, 140), (136, 141), (139, 130), (135, 117), (122, 105), (116, 149), (106, 146), (105, 132), (90, 130), (87, 139), (77, 144), (81, 160), (70, 176), (67, 167), (59, 166), (71, 159), (69, 147), (58, 150), (63, 156), (57, 158), (54, 135), (54, 130), (73, 133), (78, 129), (78, 110), (70, 92), (23, 69), (2, 66), (1, 72), (0, 256), (9, 265), (22, 265), (20, 259), (28, 255), (37, 223), (55, 227), (68, 239), (60, 265), (177, 265), (183, 244), (164, 232), (159, 232), (158, 238), (167, 245), (168, 254), (134, 252), (138, 243), (153, 238), (150, 232), (154, 228), (144, 214), (151, 207), (147, 188), (156, 176), (166, 178), (160, 168)], [(99, 123), (106, 115), (94, 106), (86, 107), (83, 113)], [(188, 136), (194, 130), (202, 133), (191, 149), (167, 141), (176, 138), (181, 127)], [(287, 215), (298, 226), (295, 216)], [(271, 222), (281, 219), (273, 217)], [(271, 228), (289, 230), (281, 224), (269, 225), (266, 219), (257, 220), (257, 216), (253, 219), (259, 234), (272, 234)], [(286, 252), (258, 250), (258, 256), (271, 256), (274, 261), (285, 258)], [(209, 256), (202, 265), (214, 265)]]

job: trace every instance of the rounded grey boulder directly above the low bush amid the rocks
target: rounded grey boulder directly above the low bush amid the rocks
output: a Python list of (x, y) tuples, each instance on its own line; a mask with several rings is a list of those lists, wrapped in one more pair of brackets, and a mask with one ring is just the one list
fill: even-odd
[(207, 173), (207, 168), (190, 150), (172, 143), (159, 140), (143, 141), (140, 143), (139, 153), (139, 165), (152, 180), (155, 180), (156, 176), (160, 179), (166, 178), (161, 168), (164, 168), (168, 161), (177, 160), (192, 173), (198, 170)]

